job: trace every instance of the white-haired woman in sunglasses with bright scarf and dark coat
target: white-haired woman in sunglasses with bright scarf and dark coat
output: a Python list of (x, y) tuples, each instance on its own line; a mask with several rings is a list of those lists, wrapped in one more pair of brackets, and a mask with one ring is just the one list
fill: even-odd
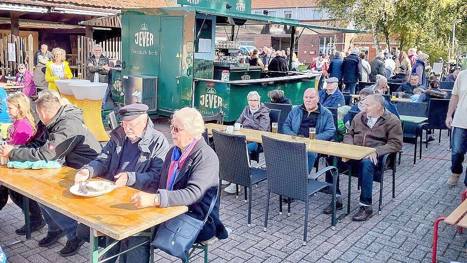
[(219, 202), (207, 214), (219, 187), (219, 159), (202, 138), (202, 132), (204, 122), (197, 109), (184, 107), (175, 111), (170, 122), (174, 146), (168, 151), (157, 179), (136, 178), (150, 180), (143, 183), (157, 189), (156, 194), (139, 192), (130, 198), (136, 208), (186, 205), (187, 215), (195, 219), (202, 221), (209, 216), (195, 243), (213, 236), (225, 239), (228, 235), (219, 219)]

